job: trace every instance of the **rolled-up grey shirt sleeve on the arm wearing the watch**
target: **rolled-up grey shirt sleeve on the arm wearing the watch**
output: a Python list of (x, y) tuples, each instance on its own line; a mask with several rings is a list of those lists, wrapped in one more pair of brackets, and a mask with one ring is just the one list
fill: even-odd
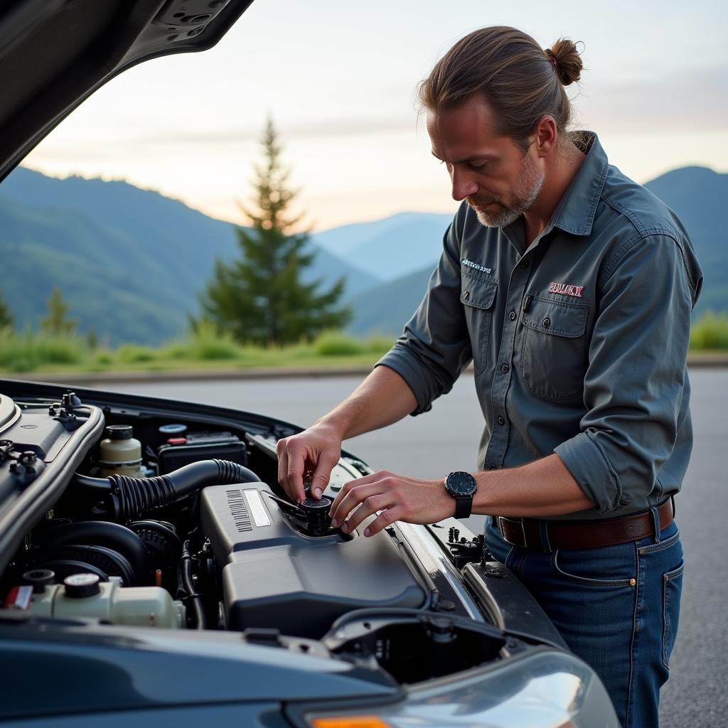
[(625, 242), (598, 282), (581, 432), (554, 451), (598, 510), (644, 499), (681, 427), (695, 290), (668, 235)]

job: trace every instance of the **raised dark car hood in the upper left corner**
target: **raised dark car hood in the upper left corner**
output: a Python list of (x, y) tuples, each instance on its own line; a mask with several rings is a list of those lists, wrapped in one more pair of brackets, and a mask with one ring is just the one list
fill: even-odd
[(116, 74), (207, 50), (252, 0), (6, 0), (0, 5), (0, 180)]

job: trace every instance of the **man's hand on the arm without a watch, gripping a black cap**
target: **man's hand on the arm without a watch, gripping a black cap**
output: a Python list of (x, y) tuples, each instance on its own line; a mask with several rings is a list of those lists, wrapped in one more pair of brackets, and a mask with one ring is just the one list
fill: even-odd
[(341, 457), (341, 435), (326, 424), (314, 424), (290, 438), (278, 440), (278, 482), (296, 502), (306, 499), (304, 474), (312, 472), (310, 494), (320, 499), (331, 470)]

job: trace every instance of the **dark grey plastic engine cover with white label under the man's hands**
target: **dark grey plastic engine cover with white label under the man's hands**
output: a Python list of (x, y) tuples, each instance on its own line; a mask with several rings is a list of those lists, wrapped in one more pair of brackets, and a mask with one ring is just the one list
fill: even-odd
[(226, 627), (320, 638), (352, 609), (417, 608), (425, 594), (384, 531), (299, 532), (264, 483), (202, 491), (202, 532), (221, 569)]

